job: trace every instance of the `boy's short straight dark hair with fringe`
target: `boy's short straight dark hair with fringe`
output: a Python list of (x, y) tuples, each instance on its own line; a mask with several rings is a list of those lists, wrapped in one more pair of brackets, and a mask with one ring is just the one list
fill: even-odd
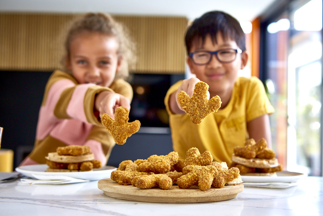
[(222, 11), (211, 11), (196, 18), (187, 29), (185, 44), (187, 53), (190, 52), (193, 42), (202, 39), (204, 43), (207, 35), (210, 35), (213, 42), (216, 41), (216, 34), (221, 33), (224, 39), (234, 40), (238, 47), (245, 51), (245, 33), (240, 23), (231, 15)]

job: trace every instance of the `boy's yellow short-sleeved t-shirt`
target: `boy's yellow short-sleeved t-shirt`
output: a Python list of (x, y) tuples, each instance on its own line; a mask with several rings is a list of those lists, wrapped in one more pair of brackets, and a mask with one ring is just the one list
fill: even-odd
[(182, 159), (189, 148), (196, 147), (201, 153), (210, 151), (215, 161), (230, 164), (234, 147), (248, 139), (247, 122), (274, 112), (257, 77), (238, 77), (227, 106), (196, 125), (188, 115), (170, 111), (169, 97), (181, 84), (178, 81), (170, 87), (164, 103), (170, 116), (173, 149)]

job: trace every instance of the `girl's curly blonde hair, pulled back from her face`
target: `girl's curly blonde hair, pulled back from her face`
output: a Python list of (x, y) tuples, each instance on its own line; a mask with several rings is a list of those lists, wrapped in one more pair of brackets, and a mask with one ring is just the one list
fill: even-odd
[(128, 30), (124, 26), (116, 22), (110, 15), (103, 13), (87, 13), (71, 23), (64, 43), (65, 55), (61, 62), (64, 69), (70, 73), (66, 68), (66, 59), (70, 56), (71, 42), (84, 32), (106, 34), (119, 40), (118, 55), (123, 57), (123, 61), (115, 79), (127, 79), (129, 77), (129, 67), (136, 62), (135, 43), (131, 40)]

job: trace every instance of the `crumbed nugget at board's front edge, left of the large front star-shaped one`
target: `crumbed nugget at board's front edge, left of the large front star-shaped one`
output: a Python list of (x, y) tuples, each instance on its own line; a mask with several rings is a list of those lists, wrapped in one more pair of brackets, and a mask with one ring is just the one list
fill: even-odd
[(141, 189), (161, 188), (167, 190), (172, 187), (173, 181), (166, 174), (152, 174), (149, 176), (135, 176), (131, 185)]

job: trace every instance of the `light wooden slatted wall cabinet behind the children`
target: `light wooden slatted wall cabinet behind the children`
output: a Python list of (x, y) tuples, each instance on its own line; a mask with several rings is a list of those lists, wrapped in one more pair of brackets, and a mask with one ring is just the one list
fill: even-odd
[[(66, 24), (79, 14), (0, 14), (0, 70), (60, 68)], [(183, 74), (186, 17), (112, 15), (137, 44), (135, 73)]]

